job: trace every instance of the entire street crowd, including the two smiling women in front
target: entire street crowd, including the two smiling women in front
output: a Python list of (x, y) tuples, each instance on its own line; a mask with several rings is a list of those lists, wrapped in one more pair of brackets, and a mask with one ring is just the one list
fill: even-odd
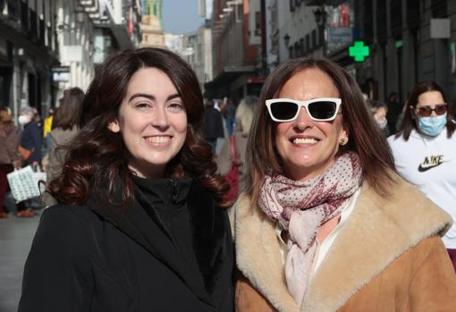
[(46, 163), (19, 311), (453, 311), (455, 107), (325, 58), (203, 99), (171, 52), (114, 55), (44, 122), (0, 109), (0, 218), (6, 174)]

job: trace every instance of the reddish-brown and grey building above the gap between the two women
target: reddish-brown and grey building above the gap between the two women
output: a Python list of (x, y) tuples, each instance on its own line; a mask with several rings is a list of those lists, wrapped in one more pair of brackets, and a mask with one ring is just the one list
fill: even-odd
[[(212, 7), (213, 80), (205, 84), (206, 97), (258, 95), (266, 76), (266, 41), (262, 49), (264, 0), (215, 0)], [(264, 51), (265, 53), (262, 53)]]

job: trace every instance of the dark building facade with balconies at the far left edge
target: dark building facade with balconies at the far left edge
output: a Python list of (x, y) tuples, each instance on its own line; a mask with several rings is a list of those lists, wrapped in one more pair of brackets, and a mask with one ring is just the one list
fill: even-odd
[(23, 105), (41, 111), (55, 100), (56, 14), (51, 0), (0, 1), (0, 105), (15, 115)]

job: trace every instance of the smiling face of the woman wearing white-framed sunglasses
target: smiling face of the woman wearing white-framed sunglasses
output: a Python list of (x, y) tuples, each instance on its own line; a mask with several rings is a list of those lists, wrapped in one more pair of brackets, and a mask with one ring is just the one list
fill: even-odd
[[(277, 97), (304, 101), (317, 97), (340, 97), (340, 94), (325, 72), (308, 68), (291, 76)], [(324, 173), (334, 164), (340, 141), (348, 139), (340, 113), (334, 121), (315, 122), (303, 107), (294, 121), (274, 123), (275, 145), (285, 174), (296, 181)]]

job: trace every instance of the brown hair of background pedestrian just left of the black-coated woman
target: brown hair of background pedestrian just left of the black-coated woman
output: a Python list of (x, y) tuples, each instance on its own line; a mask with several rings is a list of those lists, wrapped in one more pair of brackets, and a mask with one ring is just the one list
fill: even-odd
[(55, 127), (69, 130), (77, 125), (80, 121), (80, 108), (83, 100), (84, 91), (80, 88), (65, 89), (57, 114), (55, 114)]

